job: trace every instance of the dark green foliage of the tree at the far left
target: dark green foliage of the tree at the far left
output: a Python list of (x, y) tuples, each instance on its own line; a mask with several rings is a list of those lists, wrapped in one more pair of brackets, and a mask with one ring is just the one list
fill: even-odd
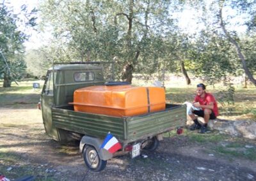
[[(26, 6), (22, 6), (26, 11)], [(35, 12), (35, 10), (33, 10)], [(35, 25), (35, 17), (27, 16), (26, 25)], [(25, 71), (24, 41), (28, 36), (19, 30), (17, 23), (21, 21), (18, 15), (0, 4), (0, 78), (4, 79), (3, 87), (10, 87), (13, 80), (21, 78)]]

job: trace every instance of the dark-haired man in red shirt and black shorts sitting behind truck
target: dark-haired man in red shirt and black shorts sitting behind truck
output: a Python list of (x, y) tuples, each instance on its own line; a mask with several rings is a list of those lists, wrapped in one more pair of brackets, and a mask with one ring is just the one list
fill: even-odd
[[(193, 110), (192, 113), (189, 114), (189, 117), (191, 117), (195, 123), (190, 127), (190, 130), (201, 129), (199, 133), (205, 133), (207, 131), (207, 123), (209, 122), (209, 119), (216, 119), (219, 115), (219, 111), (214, 96), (205, 92), (205, 85), (199, 83), (196, 87), (196, 97), (193, 106), (200, 108), (200, 110)], [(204, 117), (205, 124), (201, 126), (195, 115)]]

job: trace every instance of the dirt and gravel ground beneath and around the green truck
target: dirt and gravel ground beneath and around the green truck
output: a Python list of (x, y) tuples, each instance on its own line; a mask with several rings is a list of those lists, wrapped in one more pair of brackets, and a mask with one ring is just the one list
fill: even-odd
[[(34, 105), (35, 106), (35, 105)], [(61, 145), (44, 132), (36, 109), (0, 108), (0, 173), (7, 178), (34, 175), (39, 180), (255, 180), (256, 162), (220, 154), (213, 146), (185, 136), (164, 138), (148, 157), (116, 157), (100, 173), (88, 171), (79, 145)], [(214, 145), (215, 144), (215, 145)], [(254, 142), (248, 145), (256, 147)], [(243, 150), (241, 150), (243, 151)], [(9, 171), (8, 171), (9, 170)]]

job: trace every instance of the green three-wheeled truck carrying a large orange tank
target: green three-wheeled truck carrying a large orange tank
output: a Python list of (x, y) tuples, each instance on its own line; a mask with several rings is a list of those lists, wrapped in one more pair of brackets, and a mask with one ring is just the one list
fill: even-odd
[[(141, 149), (156, 150), (159, 141), (163, 140), (163, 133), (186, 124), (186, 105), (166, 104), (164, 111), (133, 117), (75, 112), (74, 106), (68, 104), (73, 102), (74, 91), (104, 85), (105, 64), (53, 64), (47, 71), (39, 103), (45, 132), (56, 141), (79, 140), (84, 162), (92, 171), (103, 170), (112, 157), (131, 154), (133, 158), (140, 155)], [(113, 70), (113, 64), (110, 67)], [(113, 75), (112, 72), (112, 80)], [(100, 148), (109, 132), (122, 145), (122, 149), (114, 154)]]

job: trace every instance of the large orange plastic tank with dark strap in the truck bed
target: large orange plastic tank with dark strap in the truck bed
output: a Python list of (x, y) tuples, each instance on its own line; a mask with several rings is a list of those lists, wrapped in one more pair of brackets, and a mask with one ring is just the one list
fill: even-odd
[(165, 109), (165, 93), (160, 87), (131, 85), (92, 86), (74, 92), (74, 110), (115, 117), (141, 115)]

